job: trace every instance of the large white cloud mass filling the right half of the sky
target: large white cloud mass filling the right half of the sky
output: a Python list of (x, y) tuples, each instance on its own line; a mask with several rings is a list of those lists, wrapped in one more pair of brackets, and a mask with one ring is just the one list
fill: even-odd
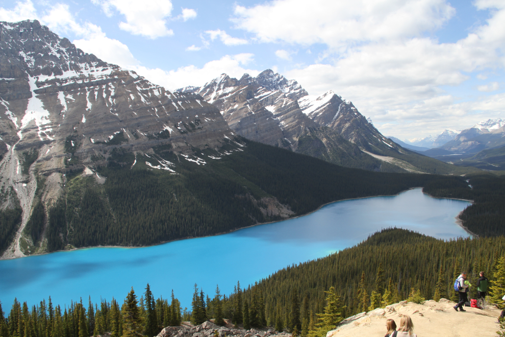
[[(484, 99), (458, 103), (462, 97), (446, 89), (468, 81), (472, 73), (484, 79), (488, 70), (505, 67), (505, 3), (480, 0), (475, 6), (490, 10), (490, 18), (454, 43), (424, 37), (454, 15), (446, 0), (276, 0), (236, 6), (233, 21), (259, 42), (326, 45), (317, 60), (326, 64), (300, 66), (285, 76), (310, 94), (333, 89), (371, 116), (381, 131), (412, 138), (413, 132), (422, 136), (428, 130), (436, 134), (437, 128), (463, 129), (463, 124), (475, 123), (476, 114), (498, 113), (489, 110), (490, 103), (477, 104)], [(275, 54), (292, 57), (285, 50)]]

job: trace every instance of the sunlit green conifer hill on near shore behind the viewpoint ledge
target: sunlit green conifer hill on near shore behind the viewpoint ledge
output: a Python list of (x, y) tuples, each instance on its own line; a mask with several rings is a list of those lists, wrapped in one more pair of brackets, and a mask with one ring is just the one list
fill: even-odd
[[(446, 242), (403, 229), (385, 229), (355, 247), (280, 270), (235, 292), (223, 307), (231, 318), (238, 301), (250, 307), (261, 299), (267, 324), (281, 322), (292, 330), (293, 315), (298, 312), (295, 321), (307, 335), (311, 322), (317, 322), (315, 314), (324, 311), (329, 296), (325, 292), (331, 287), (339, 297), (341, 317), (406, 299), (454, 300), (453, 282), (463, 270), (472, 284), (479, 271), (491, 281), (505, 277), (504, 254), (503, 236)], [(502, 284), (497, 282), (501, 281), (492, 283), (494, 293), (501, 294)], [(469, 298), (476, 298), (475, 286)]]

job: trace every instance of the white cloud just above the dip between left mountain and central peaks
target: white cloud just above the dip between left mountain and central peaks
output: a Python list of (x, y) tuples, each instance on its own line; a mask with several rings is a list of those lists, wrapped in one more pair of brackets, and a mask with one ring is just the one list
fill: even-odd
[(253, 60), (253, 54), (244, 53), (223, 56), (219, 60), (207, 62), (201, 68), (188, 65), (176, 70), (165, 71), (159, 68), (149, 69), (143, 66), (137, 66), (133, 67), (133, 70), (153, 83), (164, 86), (168, 90), (175, 90), (189, 85), (204, 85), (206, 82), (219, 77), (223, 73), (236, 78), (240, 78), (244, 73), (257, 76), (260, 74), (260, 71), (244, 68), (244, 66), (247, 66), (247, 64)]

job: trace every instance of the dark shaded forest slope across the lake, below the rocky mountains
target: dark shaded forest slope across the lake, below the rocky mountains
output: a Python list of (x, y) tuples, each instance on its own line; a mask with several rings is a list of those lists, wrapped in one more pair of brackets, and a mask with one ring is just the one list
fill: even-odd
[[(332, 201), (394, 195), (416, 186), (431, 186), (437, 196), (472, 197), (461, 177), (355, 170), (243, 141), (242, 151), (205, 164), (162, 147), (150, 155), (117, 150), (106, 167), (97, 168), (105, 184), (94, 176), (67, 177), (65, 194), (49, 210), (45, 234), (33, 236), (45, 235), (48, 251), (67, 245), (142, 246), (223, 233), (306, 214)], [(217, 156), (195, 149), (200, 153)], [(160, 163), (172, 168), (160, 170)], [(439, 184), (450, 190), (438, 189)]]

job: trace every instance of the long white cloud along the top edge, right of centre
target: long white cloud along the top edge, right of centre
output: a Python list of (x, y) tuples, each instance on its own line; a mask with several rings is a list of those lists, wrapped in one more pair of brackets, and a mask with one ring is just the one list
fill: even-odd
[(235, 6), (237, 28), (263, 42), (325, 43), (339, 48), (357, 41), (417, 37), (440, 28), (455, 10), (444, 0), (277, 0)]

